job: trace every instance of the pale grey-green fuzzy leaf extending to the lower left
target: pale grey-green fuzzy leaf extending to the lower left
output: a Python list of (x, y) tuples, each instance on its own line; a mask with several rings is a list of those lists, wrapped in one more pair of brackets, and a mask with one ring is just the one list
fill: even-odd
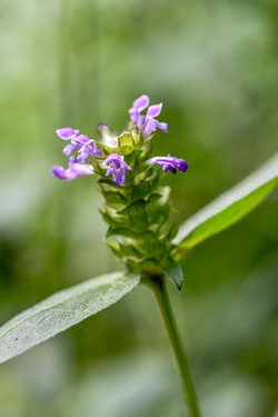
[(138, 275), (113, 272), (59, 291), (0, 328), (0, 363), (111, 306), (139, 282)]

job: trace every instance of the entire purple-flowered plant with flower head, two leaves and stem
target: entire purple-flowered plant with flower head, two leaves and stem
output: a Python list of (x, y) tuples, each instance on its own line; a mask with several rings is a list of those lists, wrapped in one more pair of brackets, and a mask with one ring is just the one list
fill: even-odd
[[(158, 300), (180, 371), (190, 417), (200, 416), (185, 350), (173, 318), (166, 279), (180, 290), (179, 259), (210, 236), (240, 220), (274, 189), (278, 181), (278, 155), (241, 183), (201, 209), (180, 228), (171, 220), (170, 189), (165, 175), (183, 175), (183, 156), (153, 156), (156, 130), (168, 131), (159, 121), (162, 105), (150, 106), (139, 97), (129, 110), (127, 128), (117, 136), (109, 126), (97, 127), (91, 139), (78, 129), (62, 128), (68, 167), (54, 166), (54, 177), (71, 181), (97, 176), (108, 224), (105, 242), (125, 265), (125, 271), (93, 278), (62, 290), (21, 312), (0, 328), (0, 361), (6, 361), (49, 337), (118, 301), (139, 282), (148, 285)], [(88, 179), (89, 181), (89, 179)]]

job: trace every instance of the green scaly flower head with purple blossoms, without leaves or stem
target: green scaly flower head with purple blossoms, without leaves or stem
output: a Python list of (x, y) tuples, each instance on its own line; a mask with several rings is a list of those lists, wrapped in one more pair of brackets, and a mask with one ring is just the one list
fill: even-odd
[[(129, 272), (148, 279), (165, 270), (180, 289), (182, 271), (173, 260), (172, 245), (178, 228), (169, 220), (170, 189), (161, 186), (160, 178), (168, 171), (186, 172), (188, 163), (170, 153), (151, 155), (156, 130), (168, 130), (157, 120), (161, 109), (162, 103), (150, 106), (148, 96), (139, 97), (129, 110), (127, 129), (116, 138), (105, 123), (98, 126), (96, 140), (77, 129), (58, 129), (58, 137), (67, 141), (63, 153), (71, 156), (69, 168), (53, 167), (52, 175), (66, 180), (97, 175), (106, 200), (100, 212), (109, 225), (105, 242)], [(89, 159), (91, 165), (86, 163)]]

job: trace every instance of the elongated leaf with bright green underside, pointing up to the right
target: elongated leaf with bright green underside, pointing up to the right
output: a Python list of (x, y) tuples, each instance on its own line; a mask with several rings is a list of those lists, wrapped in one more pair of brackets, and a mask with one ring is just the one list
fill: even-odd
[(278, 181), (278, 153), (239, 185), (188, 219), (173, 240), (176, 259), (202, 240), (240, 220), (262, 201)]

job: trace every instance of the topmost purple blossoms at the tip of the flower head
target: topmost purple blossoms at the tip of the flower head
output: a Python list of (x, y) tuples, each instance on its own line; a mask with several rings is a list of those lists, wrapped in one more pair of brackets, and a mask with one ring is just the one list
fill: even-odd
[[(168, 125), (160, 122), (156, 119), (161, 112), (162, 103), (150, 106), (149, 97), (143, 95), (140, 96), (132, 105), (129, 110), (131, 121), (138, 127), (139, 130), (142, 130), (145, 138), (148, 138), (157, 129), (167, 132)], [(146, 116), (141, 115), (141, 111), (147, 109)]]

